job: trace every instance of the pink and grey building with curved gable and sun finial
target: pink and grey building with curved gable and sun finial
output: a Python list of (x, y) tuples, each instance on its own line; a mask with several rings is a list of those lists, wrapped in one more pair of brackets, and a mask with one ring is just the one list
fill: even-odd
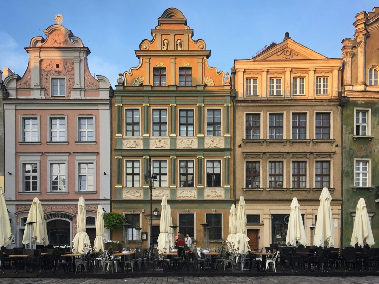
[[(90, 54), (62, 25), (32, 38), (20, 77), (3, 68), (5, 194), (14, 246), (21, 246), (32, 200), (41, 200), (50, 244), (71, 245), (77, 204), (86, 199), (87, 233), (96, 237), (96, 211), (110, 205), (111, 84), (94, 78)], [(107, 239), (109, 232), (105, 231)]]

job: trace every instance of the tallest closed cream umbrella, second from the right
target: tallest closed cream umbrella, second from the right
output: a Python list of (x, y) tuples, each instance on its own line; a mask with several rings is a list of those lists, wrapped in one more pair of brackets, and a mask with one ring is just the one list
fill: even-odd
[(333, 215), (330, 202), (332, 197), (329, 190), (324, 187), (320, 195), (320, 206), (318, 207), (317, 223), (314, 232), (314, 246), (333, 247), (334, 246), (334, 228)]

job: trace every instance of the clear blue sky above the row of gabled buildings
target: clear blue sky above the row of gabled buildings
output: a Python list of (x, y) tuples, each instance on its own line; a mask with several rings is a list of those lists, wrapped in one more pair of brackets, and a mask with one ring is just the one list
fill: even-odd
[(341, 57), (341, 40), (354, 36), (359, 12), (371, 12), (377, 1), (131, 1), (131, 0), (19, 0), (4, 1), (0, 25), (0, 68), (22, 76), (34, 36), (63, 16), (67, 29), (81, 38), (91, 54), (92, 74), (116, 83), (118, 73), (138, 65), (134, 50), (151, 39), (151, 29), (164, 10), (175, 7), (187, 18), (194, 39), (210, 49), (210, 66), (230, 71), (234, 59), (251, 58), (265, 45), (281, 42), (285, 32), (296, 42), (327, 57)]

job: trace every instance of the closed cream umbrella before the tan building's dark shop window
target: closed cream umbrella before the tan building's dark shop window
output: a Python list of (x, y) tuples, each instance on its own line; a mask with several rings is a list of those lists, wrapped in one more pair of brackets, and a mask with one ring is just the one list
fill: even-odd
[(290, 219), (288, 221), (286, 244), (287, 246), (297, 247), (297, 243), (307, 246), (307, 237), (305, 235), (302, 214), (297, 198), (294, 197), (291, 203)]

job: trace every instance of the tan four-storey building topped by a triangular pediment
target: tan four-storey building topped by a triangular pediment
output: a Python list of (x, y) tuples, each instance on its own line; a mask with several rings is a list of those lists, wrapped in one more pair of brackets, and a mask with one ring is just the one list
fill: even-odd
[[(341, 63), (295, 42), (288, 33), (252, 59), (234, 61), (236, 195), (246, 201), (251, 248), (285, 244), (293, 197), (304, 225), (314, 225), (323, 187), (333, 198), (338, 247)], [(309, 228), (306, 235), (310, 244)]]

